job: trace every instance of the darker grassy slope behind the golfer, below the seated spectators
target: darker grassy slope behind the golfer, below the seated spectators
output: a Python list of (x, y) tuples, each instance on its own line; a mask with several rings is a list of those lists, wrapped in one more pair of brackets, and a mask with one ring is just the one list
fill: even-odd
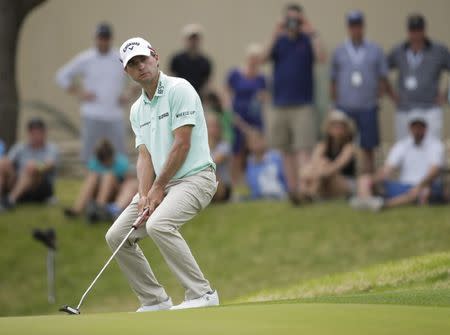
[[(83, 220), (68, 221), (62, 215), (60, 207), (71, 203), (78, 186), (79, 182), (74, 180), (59, 182), (57, 195), (60, 206), (27, 205), (0, 215), (3, 246), (0, 253), (0, 315), (56, 313), (59, 305), (76, 304), (109, 257), (110, 251), (104, 241), (107, 225), (89, 226)], [(49, 226), (54, 227), (58, 234), (56, 305), (49, 305), (46, 301), (46, 251), (31, 240), (32, 228)], [(370, 269), (380, 263), (433, 253), (448, 257), (444, 252), (449, 250), (449, 234), (448, 207), (402, 208), (374, 214), (351, 211), (343, 202), (304, 208), (271, 202), (210, 206), (183, 228), (183, 235), (194, 255), (225, 303), (266, 289), (294, 289), (298, 283), (311, 283), (316, 278), (325, 280), (324, 276), (329, 274), (338, 276), (333, 278), (342, 274), (345, 279), (347, 272), (355, 274), (357, 272), (354, 271)], [(180, 301), (183, 290), (153, 243), (147, 239), (141, 245), (160, 282), (176, 302)], [(378, 277), (370, 275), (366, 279), (369, 283), (379, 281)], [(394, 284), (390, 290), (395, 289), (397, 284)], [(410, 289), (437, 292), (433, 289), (439, 288), (425, 284)], [(313, 286), (320, 287), (317, 285)], [(371, 292), (371, 288), (362, 287), (360, 290), (354, 286), (354, 290), (341, 290), (339, 294), (348, 296), (348, 302), (364, 302), (358, 300), (358, 294)], [(276, 289), (273, 291), (278, 292)], [(377, 298), (373, 298), (375, 300), (387, 299), (388, 294), (401, 295), (401, 292), (375, 293), (379, 293)], [(299, 297), (294, 295), (289, 299)], [(318, 299), (319, 295), (311, 297)], [(340, 299), (320, 297), (331, 299), (328, 302)], [(83, 313), (130, 311), (137, 305), (114, 263), (88, 296)], [(255, 308), (260, 308), (258, 306)], [(264, 308), (269, 310), (272, 307)], [(227, 308), (223, 310), (228, 311)], [(104, 317), (107, 320), (109, 316)], [(2, 322), (7, 322), (5, 320), (14, 318), (2, 319)], [(39, 320), (46, 319), (30, 320), (36, 320), (38, 324)], [(89, 322), (91, 319), (86, 320)]]

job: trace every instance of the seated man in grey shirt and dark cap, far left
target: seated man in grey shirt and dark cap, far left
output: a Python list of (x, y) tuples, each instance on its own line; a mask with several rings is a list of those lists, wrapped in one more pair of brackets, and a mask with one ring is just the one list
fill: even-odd
[(0, 159), (0, 211), (18, 202), (44, 202), (53, 196), (57, 147), (47, 142), (45, 123), (41, 119), (28, 122), (27, 141), (15, 144)]

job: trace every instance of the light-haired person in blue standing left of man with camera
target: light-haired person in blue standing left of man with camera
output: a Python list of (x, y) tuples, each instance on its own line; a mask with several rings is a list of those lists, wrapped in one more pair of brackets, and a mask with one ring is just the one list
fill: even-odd
[[(234, 114), (239, 115), (249, 126), (262, 131), (262, 109), (267, 101), (267, 82), (260, 70), (262, 48), (252, 44), (247, 48), (246, 54), (244, 67), (232, 69), (228, 74), (227, 91), (232, 99)], [(245, 135), (234, 127), (231, 170), (234, 185), (241, 180), (247, 150)]]

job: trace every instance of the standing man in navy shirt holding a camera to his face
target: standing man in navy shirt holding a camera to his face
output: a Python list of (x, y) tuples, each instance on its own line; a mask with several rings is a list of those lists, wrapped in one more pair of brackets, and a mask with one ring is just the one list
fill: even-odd
[(273, 61), (274, 110), (267, 113), (271, 147), (281, 150), (291, 200), (298, 191), (299, 164), (316, 141), (313, 66), (325, 56), (318, 34), (302, 8), (288, 5), (265, 55)]

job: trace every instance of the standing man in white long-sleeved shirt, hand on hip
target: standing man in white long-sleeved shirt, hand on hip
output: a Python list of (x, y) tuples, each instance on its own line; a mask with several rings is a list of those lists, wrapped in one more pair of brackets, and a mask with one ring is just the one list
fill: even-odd
[[(77, 77), (81, 77), (82, 85), (76, 84)], [(56, 81), (81, 103), (81, 160), (87, 162), (102, 138), (125, 153), (123, 105), (130, 97), (124, 90), (126, 76), (119, 53), (112, 48), (112, 29), (108, 24), (98, 25), (95, 47), (64, 65), (56, 74)]]

